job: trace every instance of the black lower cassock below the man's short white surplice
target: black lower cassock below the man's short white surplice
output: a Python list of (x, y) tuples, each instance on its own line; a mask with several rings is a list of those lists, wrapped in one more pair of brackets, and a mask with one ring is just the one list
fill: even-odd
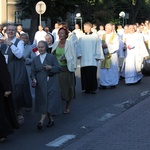
[(82, 90), (97, 90), (97, 67), (87, 66), (81, 67), (81, 86)]

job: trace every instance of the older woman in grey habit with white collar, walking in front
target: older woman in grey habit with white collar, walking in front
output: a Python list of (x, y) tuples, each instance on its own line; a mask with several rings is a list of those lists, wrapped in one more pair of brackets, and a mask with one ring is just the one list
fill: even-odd
[(35, 87), (35, 110), (41, 113), (37, 128), (41, 129), (46, 116), (49, 121), (47, 127), (54, 125), (51, 114), (61, 111), (61, 97), (57, 78), (60, 66), (56, 57), (46, 52), (48, 46), (45, 41), (38, 43), (40, 55), (35, 57), (31, 64), (31, 79)]

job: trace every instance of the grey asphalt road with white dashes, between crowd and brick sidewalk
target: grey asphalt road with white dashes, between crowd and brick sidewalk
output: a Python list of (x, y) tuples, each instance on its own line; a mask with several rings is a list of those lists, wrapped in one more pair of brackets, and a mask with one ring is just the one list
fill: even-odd
[(0, 144), (0, 150), (61, 150), (150, 95), (150, 77), (143, 77), (140, 84), (132, 86), (120, 80), (115, 89), (98, 89), (96, 94), (82, 93), (79, 70), (76, 81), (76, 99), (69, 114), (54, 116), (55, 124), (51, 128), (46, 128), (46, 120), (43, 129), (38, 131), (39, 114), (34, 108), (31, 112), (24, 111), (24, 124)]

